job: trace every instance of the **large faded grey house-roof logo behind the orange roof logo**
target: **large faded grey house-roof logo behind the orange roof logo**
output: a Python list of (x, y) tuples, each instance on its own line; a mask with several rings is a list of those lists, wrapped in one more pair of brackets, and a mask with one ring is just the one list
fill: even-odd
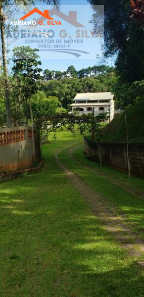
[[(75, 10), (69, 10), (69, 13), (67, 15), (55, 8), (52, 8), (49, 10), (49, 17), (51, 17), (53, 15), (58, 16), (59, 18), (63, 19), (67, 23), (73, 25), (74, 27), (85, 28), (85, 26), (83, 24), (81, 24), (77, 21), (77, 11), (75, 11)], [(36, 24), (34, 26), (37, 26), (39, 24), (39, 21), (44, 21), (46, 18), (47, 17), (43, 13), (42, 17), (36, 20)]]

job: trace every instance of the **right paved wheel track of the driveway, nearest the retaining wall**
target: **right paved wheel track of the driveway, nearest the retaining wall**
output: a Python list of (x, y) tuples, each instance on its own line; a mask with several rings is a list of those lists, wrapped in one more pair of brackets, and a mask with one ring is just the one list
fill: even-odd
[(128, 193), (136, 196), (136, 197), (139, 197), (139, 198), (143, 198), (144, 199), (144, 192), (141, 191), (140, 189), (138, 189), (137, 187), (135, 187), (134, 185), (130, 184), (129, 181), (124, 181), (122, 179), (118, 179), (117, 177), (112, 177), (112, 176), (109, 176), (109, 175), (106, 175), (105, 173), (99, 171), (99, 170), (96, 170), (94, 169), (92, 166), (89, 166), (89, 165), (85, 165), (83, 162), (79, 161), (78, 159), (76, 159), (74, 156), (73, 156), (73, 152), (74, 150), (76, 150), (77, 148), (81, 148), (82, 145), (79, 145), (75, 148), (71, 148), (70, 151), (69, 151), (69, 155), (72, 159), (74, 159), (78, 164), (80, 164), (82, 167), (94, 172), (96, 175), (99, 175), (107, 180), (109, 180), (111, 183), (113, 183), (114, 185), (117, 185), (119, 186), (120, 188), (124, 189), (125, 191), (127, 191)]

